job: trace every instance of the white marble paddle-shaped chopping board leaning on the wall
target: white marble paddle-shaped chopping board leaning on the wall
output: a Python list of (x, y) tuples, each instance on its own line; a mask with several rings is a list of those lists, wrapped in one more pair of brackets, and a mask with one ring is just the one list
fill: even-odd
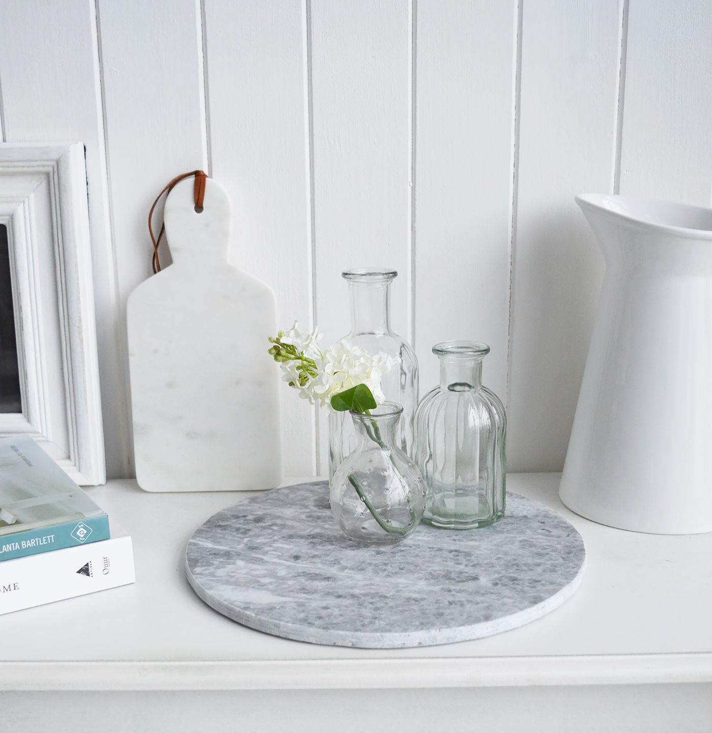
[(282, 479), (275, 294), (230, 265), (230, 202), (210, 178), (166, 199), (173, 264), (127, 305), (136, 479), (147, 491), (267, 489)]

